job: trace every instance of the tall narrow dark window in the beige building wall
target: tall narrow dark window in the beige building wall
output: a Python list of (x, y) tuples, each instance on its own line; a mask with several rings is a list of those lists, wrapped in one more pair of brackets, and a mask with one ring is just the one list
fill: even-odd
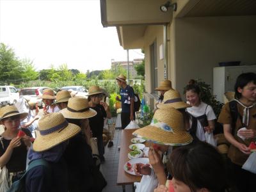
[(154, 90), (158, 86), (157, 81), (157, 49), (156, 40), (150, 45), (150, 68), (151, 68), (151, 90), (153, 94), (157, 95)]

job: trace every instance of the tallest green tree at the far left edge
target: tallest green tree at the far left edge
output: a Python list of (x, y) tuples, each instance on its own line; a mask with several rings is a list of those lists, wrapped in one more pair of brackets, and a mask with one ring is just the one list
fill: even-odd
[(0, 44), (0, 81), (18, 83), (22, 81), (22, 65), (11, 47)]

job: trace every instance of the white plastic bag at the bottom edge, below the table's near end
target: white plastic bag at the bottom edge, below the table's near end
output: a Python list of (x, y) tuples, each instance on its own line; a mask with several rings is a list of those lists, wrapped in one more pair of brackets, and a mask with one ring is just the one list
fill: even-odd
[(154, 192), (154, 189), (157, 188), (158, 180), (154, 173), (152, 175), (143, 175), (141, 181), (136, 184), (135, 192)]

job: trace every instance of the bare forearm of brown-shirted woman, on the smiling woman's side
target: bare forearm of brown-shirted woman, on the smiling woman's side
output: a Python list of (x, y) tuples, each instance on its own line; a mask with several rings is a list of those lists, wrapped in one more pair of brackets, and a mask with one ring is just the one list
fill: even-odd
[(229, 143), (231, 143), (232, 145), (234, 145), (236, 148), (238, 148), (239, 150), (241, 150), (241, 152), (243, 152), (244, 154), (250, 154), (250, 148), (248, 148), (246, 145), (244, 145), (243, 143), (239, 143), (234, 136), (232, 135), (231, 132), (231, 125), (230, 124), (224, 124), (223, 125), (223, 129), (224, 129), (224, 135), (225, 138), (228, 140)]

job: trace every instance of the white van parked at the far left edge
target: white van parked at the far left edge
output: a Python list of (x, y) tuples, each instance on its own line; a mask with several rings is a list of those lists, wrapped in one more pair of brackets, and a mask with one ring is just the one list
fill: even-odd
[(0, 106), (12, 105), (19, 100), (19, 93), (14, 86), (0, 86)]

